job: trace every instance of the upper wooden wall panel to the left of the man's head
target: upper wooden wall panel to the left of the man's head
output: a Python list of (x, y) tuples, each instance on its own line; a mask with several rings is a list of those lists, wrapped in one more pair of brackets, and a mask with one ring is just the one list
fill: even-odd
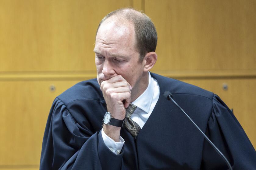
[(0, 72), (95, 70), (98, 23), (131, 0), (0, 1)]

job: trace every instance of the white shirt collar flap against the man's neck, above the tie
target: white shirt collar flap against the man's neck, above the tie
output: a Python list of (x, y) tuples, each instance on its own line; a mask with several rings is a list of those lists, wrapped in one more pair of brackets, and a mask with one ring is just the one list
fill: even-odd
[(153, 96), (154, 83), (152, 82), (152, 77), (148, 72), (148, 87), (136, 100), (132, 102), (132, 104), (148, 113), (153, 100)]

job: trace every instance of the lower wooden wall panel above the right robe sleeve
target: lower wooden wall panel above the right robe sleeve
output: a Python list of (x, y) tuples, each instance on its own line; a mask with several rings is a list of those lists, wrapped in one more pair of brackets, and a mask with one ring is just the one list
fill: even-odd
[[(256, 148), (256, 110), (254, 108), (256, 78), (180, 80), (212, 91), (221, 97), (227, 106), (233, 109), (234, 115), (244, 128), (254, 148)], [(228, 86), (227, 90), (223, 90), (223, 84)]]

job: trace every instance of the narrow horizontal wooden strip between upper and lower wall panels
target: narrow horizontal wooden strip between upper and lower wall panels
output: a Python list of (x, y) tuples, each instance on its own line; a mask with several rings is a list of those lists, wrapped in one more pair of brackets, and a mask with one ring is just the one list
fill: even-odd
[[(256, 78), (256, 70), (155, 70), (154, 73), (175, 79), (225, 79)], [(43, 81), (43, 80), (77, 80), (96, 78), (97, 71), (73, 72), (9, 72), (0, 73), (0, 81)]]

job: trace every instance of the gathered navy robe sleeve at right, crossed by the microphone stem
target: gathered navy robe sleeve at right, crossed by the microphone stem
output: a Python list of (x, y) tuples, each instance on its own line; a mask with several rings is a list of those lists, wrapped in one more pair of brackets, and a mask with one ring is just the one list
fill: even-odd
[[(256, 152), (242, 126), (226, 104), (214, 95), (206, 135), (229, 160), (233, 170), (256, 169)], [(228, 169), (225, 161), (204, 140), (201, 169)]]

